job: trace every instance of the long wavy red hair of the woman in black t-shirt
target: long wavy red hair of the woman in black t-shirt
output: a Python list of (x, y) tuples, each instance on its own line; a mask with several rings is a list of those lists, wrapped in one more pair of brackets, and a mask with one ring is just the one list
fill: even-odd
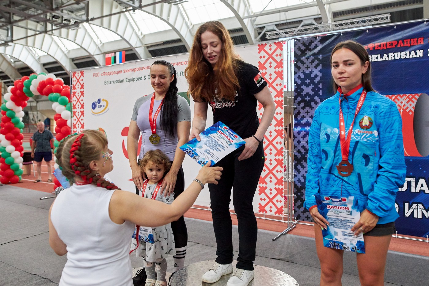
[[(222, 47), (215, 66), (202, 55), (201, 34), (210, 31), (221, 40)], [(219, 21), (209, 21), (196, 30), (189, 53), (189, 63), (185, 76), (189, 84), (188, 95), (197, 102), (207, 102), (217, 94), (218, 99), (234, 100), (240, 88), (236, 71), (239, 56), (234, 52), (234, 44), (227, 28)]]

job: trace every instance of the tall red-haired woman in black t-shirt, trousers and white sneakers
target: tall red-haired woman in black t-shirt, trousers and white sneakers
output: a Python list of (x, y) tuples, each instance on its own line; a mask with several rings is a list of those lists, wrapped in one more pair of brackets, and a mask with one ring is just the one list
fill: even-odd
[[(240, 60), (233, 41), (219, 21), (202, 24), (196, 31), (185, 76), (195, 101), (190, 139), (205, 129), (207, 107), (213, 121), (221, 121), (245, 140), (245, 145), (216, 165), (224, 167), (218, 185), (209, 184), (211, 214), (215, 231), (216, 263), (202, 275), (206, 283), (218, 281), (233, 271), (232, 221), (229, 212), (231, 188), (239, 229), (236, 271), (227, 286), (246, 286), (253, 279), (257, 222), (252, 201), (264, 165), (263, 137), (275, 112), (267, 83), (257, 67)], [(257, 103), (263, 107), (261, 122)]]

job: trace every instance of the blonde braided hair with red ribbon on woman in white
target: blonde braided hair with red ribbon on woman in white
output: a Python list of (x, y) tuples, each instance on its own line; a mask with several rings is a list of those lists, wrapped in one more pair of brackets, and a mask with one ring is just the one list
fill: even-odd
[[(77, 143), (80, 143), (80, 146), (77, 146)], [(72, 146), (76, 150), (70, 154)], [(63, 175), (70, 182), (79, 176), (85, 182), (95, 186), (109, 190), (118, 189), (115, 184), (106, 181), (100, 174), (89, 168), (92, 161), (100, 160), (101, 154), (106, 151), (106, 148), (107, 138), (103, 133), (96, 130), (84, 130), (81, 134), (70, 136), (58, 146), (57, 163), (62, 167)], [(71, 158), (73, 158), (73, 163), (70, 163)]]

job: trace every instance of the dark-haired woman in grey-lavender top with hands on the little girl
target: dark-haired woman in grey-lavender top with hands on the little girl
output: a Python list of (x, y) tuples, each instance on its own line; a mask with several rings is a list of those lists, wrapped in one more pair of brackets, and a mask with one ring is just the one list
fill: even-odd
[[(181, 164), (184, 152), (178, 147), (187, 142), (190, 132), (190, 107), (187, 100), (177, 94), (175, 68), (168, 61), (155, 61), (150, 70), (154, 91), (136, 100), (127, 137), (128, 158), (136, 193), (142, 188), (144, 178), (138, 161), (149, 150), (160, 149), (171, 161), (171, 169), (165, 175), (161, 194), (174, 198), (184, 190), (184, 174)], [(139, 150), (139, 136), (142, 146)], [(137, 160), (138, 158), (138, 160)], [(183, 216), (171, 224), (176, 252), (174, 271), (184, 266), (187, 246), (187, 229)]]

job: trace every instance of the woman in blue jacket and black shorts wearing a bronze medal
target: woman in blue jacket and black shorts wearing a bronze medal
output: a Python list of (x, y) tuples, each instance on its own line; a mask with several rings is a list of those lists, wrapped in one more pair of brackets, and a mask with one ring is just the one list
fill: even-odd
[(314, 194), (354, 196), (360, 220), (350, 231), (363, 233), (366, 249), (356, 254), (360, 283), (384, 285), (387, 250), (398, 218), (396, 192), (405, 181), (402, 120), (396, 104), (372, 88), (369, 56), (362, 45), (338, 43), (330, 63), (337, 92), (314, 112), (305, 183), (320, 285), (341, 285), (343, 250), (323, 246), (321, 228), (328, 221), (318, 212)]

